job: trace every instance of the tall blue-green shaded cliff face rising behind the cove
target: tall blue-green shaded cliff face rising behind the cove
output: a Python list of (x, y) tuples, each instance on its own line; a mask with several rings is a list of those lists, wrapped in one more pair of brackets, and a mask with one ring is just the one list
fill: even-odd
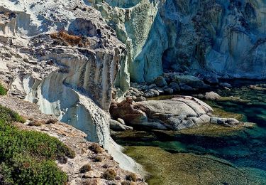
[(134, 82), (152, 83), (163, 70), (265, 78), (265, 1), (101, 1), (94, 6), (127, 45), (123, 65)]

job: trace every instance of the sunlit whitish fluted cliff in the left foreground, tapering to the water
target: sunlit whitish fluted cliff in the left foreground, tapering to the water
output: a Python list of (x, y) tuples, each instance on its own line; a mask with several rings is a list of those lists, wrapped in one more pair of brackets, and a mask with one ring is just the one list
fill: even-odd
[(83, 1), (0, 2), (0, 79), (9, 95), (81, 129), (136, 170), (109, 131), (113, 84), (126, 47)]

